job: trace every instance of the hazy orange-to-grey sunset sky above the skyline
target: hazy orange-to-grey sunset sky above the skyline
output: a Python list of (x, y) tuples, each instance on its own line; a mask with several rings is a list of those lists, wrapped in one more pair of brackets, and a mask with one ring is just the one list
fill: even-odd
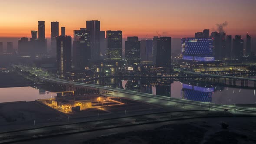
[(30, 37), (37, 21), (59, 21), (66, 34), (100, 20), (101, 30), (122, 30), (124, 37), (180, 38), (228, 22), (227, 34), (256, 35), (256, 0), (0, 0), (0, 37)]

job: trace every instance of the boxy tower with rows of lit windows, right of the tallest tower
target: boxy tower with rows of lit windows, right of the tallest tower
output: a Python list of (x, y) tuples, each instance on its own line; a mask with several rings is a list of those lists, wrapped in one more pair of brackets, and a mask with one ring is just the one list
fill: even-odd
[(122, 60), (122, 31), (107, 31), (108, 56), (107, 59)]

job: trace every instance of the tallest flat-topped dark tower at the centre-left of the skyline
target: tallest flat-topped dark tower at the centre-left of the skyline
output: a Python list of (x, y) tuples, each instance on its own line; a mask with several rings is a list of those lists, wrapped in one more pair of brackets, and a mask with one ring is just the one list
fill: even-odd
[(86, 21), (86, 29), (91, 33), (91, 58), (100, 59), (100, 21)]

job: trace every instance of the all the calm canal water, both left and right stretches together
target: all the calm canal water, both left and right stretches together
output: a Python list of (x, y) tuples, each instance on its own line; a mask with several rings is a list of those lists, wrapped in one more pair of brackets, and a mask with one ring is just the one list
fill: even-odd
[[(167, 79), (100, 79), (88, 82), (96, 85), (128, 89), (137, 92), (182, 98), (193, 101), (212, 102), (223, 105), (255, 104), (255, 89), (205, 85), (195, 82), (180, 82)], [(35, 101), (55, 97), (47, 88), (17, 87), (0, 88), (0, 103), (10, 101)], [(56, 92), (56, 91), (54, 91)]]

